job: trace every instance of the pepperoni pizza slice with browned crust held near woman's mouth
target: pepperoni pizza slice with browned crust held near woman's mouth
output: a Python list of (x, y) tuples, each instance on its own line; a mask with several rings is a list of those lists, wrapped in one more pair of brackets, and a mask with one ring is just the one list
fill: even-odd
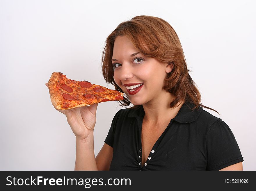
[(70, 80), (61, 72), (53, 72), (48, 81), (51, 103), (56, 109), (66, 110), (105, 101), (124, 99), (123, 93), (88, 81)]

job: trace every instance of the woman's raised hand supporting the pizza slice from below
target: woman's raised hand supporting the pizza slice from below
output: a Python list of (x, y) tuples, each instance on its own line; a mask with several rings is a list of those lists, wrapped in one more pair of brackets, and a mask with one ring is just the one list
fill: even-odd
[[(45, 83), (49, 88), (48, 83)], [(90, 106), (83, 106), (78, 108), (58, 110), (67, 117), (67, 122), (70, 125), (73, 133), (78, 140), (85, 140), (89, 133), (93, 132), (96, 124), (96, 111), (98, 103)]]

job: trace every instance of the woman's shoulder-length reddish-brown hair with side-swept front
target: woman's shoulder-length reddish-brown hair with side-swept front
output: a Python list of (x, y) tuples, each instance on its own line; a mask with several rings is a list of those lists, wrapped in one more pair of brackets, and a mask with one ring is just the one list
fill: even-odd
[[(106, 45), (102, 53), (102, 72), (106, 83), (111, 83), (115, 86), (115, 90), (124, 93), (114, 81), (114, 69), (111, 61), (115, 38), (123, 35), (129, 38), (134, 47), (143, 55), (155, 58), (159, 62), (173, 63), (173, 70), (165, 78), (167, 85), (163, 87), (164, 90), (175, 96), (175, 99), (170, 102), (171, 108), (180, 101), (187, 101), (195, 105), (193, 110), (199, 105), (217, 112), (200, 104), (201, 95), (189, 75), (191, 70), (187, 68), (178, 35), (168, 22), (159, 17), (136, 16), (129, 21), (121, 22), (106, 38)], [(131, 103), (127, 95), (118, 102), (121, 103), (121, 106), (129, 106)], [(131, 109), (138, 107), (133, 106)]]

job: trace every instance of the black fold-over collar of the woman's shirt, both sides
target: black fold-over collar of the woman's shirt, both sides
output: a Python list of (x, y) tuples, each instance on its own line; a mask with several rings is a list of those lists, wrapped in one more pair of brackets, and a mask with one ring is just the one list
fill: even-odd
[[(181, 106), (179, 112), (177, 115), (173, 118), (173, 120), (179, 122), (179, 123), (191, 123), (195, 121), (200, 113), (202, 112), (202, 107), (198, 106), (195, 110), (192, 110), (194, 107), (193, 103), (189, 103), (185, 101), (183, 105)], [(140, 105), (139, 108), (131, 109), (131, 111), (128, 114), (128, 117), (143, 117), (145, 114), (145, 111), (143, 109), (143, 106)]]

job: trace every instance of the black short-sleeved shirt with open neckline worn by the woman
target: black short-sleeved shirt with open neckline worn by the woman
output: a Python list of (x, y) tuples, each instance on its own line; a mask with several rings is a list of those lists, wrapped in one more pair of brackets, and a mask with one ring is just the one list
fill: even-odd
[(105, 143), (113, 147), (110, 170), (220, 170), (243, 161), (229, 126), (198, 106), (185, 102), (142, 163), (141, 128), (145, 115), (120, 109)]

